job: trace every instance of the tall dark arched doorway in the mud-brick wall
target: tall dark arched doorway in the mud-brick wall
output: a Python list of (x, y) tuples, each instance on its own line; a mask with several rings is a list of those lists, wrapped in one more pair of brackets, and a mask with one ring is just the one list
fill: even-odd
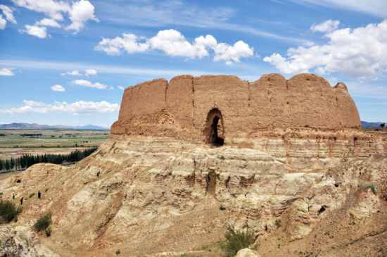
[(213, 108), (207, 115), (204, 135), (207, 144), (212, 146), (222, 146), (224, 144), (223, 116), (217, 108)]

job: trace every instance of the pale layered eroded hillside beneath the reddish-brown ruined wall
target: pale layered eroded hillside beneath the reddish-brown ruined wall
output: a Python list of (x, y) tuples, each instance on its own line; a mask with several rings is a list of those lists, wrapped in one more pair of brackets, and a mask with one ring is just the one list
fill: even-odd
[(44, 192), (18, 224), (52, 211), (41, 239), (62, 256), (180, 256), (219, 242), (227, 223), (253, 231), (262, 256), (298, 256), (386, 230), (386, 149), (385, 135), (348, 129), (259, 130), (222, 147), (113, 135), (76, 165), (34, 165), (1, 192)]

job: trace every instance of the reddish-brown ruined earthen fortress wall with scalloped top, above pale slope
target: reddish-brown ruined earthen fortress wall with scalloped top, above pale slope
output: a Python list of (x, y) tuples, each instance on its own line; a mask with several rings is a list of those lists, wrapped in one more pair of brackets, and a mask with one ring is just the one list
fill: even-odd
[[(226, 142), (267, 127), (360, 128), (345, 84), (331, 87), (322, 77), (279, 74), (248, 82), (235, 76), (205, 75), (158, 79), (125, 89), (111, 134), (148, 134), (205, 142), (208, 114), (222, 113)], [(150, 122), (162, 121), (151, 126)], [(152, 127), (148, 128), (147, 127)]]

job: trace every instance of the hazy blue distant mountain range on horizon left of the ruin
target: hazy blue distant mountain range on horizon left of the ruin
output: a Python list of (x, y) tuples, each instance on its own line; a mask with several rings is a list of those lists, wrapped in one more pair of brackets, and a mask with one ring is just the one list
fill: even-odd
[(64, 125), (40, 125), (37, 123), (11, 123), (0, 124), (0, 129), (17, 129), (17, 130), (110, 130), (107, 127), (96, 125), (85, 126), (64, 126)]

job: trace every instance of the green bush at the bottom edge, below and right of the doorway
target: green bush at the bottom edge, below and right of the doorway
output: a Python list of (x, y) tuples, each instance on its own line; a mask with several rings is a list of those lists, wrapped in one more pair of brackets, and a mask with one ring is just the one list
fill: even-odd
[(247, 248), (254, 243), (254, 234), (250, 231), (235, 231), (231, 225), (227, 226), (227, 232), (224, 234), (226, 241), (220, 244), (220, 247), (227, 254), (228, 257), (233, 257), (236, 253)]

